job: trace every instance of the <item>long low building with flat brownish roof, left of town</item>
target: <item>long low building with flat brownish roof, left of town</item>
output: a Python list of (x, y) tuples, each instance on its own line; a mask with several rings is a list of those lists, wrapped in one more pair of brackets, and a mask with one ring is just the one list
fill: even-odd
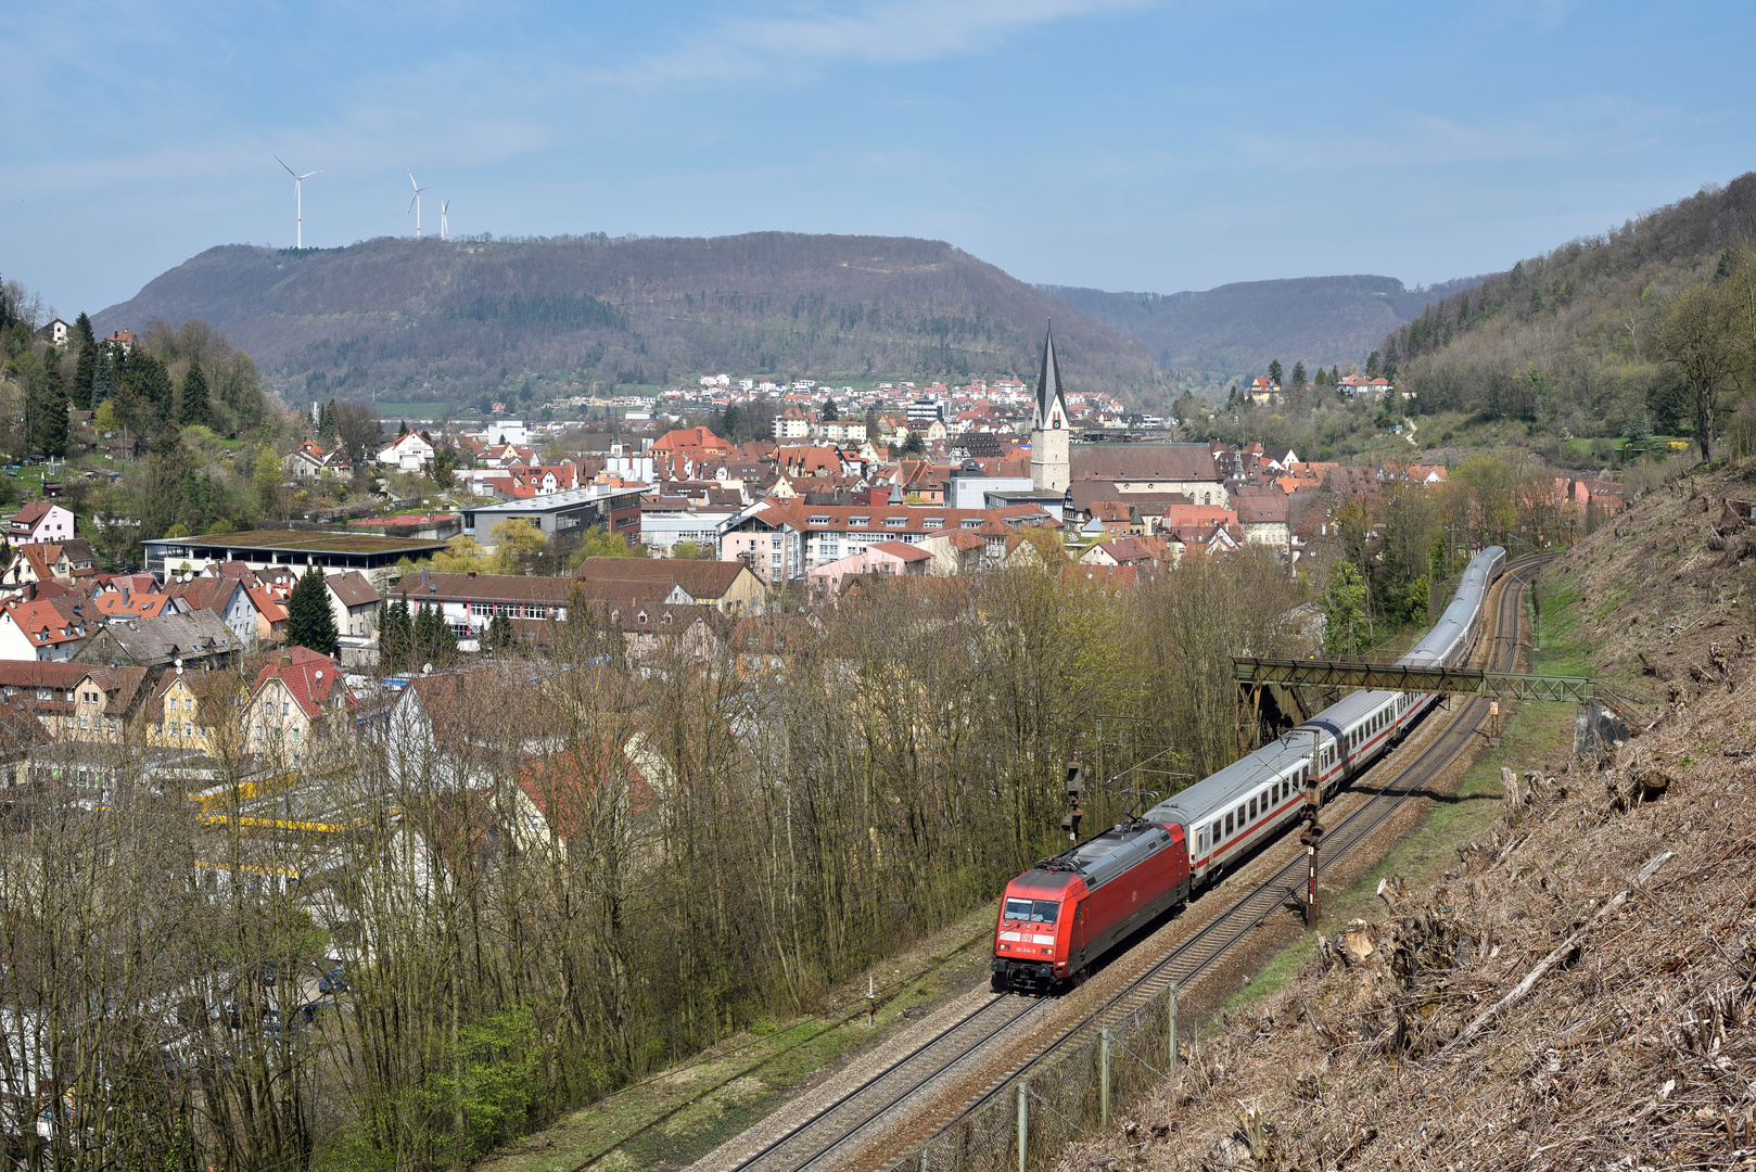
[(209, 534), (204, 538), (155, 538), (146, 546), (146, 569), (163, 582), (169, 575), (200, 571), (207, 562), (242, 562), (262, 573), (276, 566), (304, 573), (316, 566), (325, 575), (356, 569), (383, 594), (404, 557), (420, 561), (446, 548), (444, 541), (418, 538), (376, 538), (355, 532), (290, 532), (255, 529), (251, 532)]

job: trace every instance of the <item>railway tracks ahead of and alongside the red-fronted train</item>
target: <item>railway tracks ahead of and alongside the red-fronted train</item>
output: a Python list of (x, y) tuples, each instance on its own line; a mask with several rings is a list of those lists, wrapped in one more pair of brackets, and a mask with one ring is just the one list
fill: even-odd
[[(1517, 657), (1521, 606), (1529, 578), (1552, 553), (1522, 559), (1508, 566), (1507, 583), (1500, 594), (1493, 641), (1487, 648), (1487, 666), (1496, 671), (1512, 668)], [(1487, 717), (1487, 701), (1472, 698), (1452, 720), (1435, 736), (1414, 761), (1368, 801), (1324, 833), (1326, 861), (1347, 856), (1375, 829), (1389, 821), (1414, 794), (1438, 777), (1480, 731)], [(1064, 1047), (1082, 1040), (1090, 1031), (1126, 1017), (1129, 1012), (1162, 993), (1171, 982), (1187, 984), (1210, 970), (1222, 956), (1256, 931), (1263, 921), (1287, 908), (1303, 894), (1308, 863), (1294, 856), (1268, 880), (1252, 887), (1231, 903), (1201, 931), (1177, 945), (1145, 973), (1131, 980), (1098, 1009), (1068, 1026), (1048, 1045), (1011, 1068), (982, 1096), (964, 1107), (957, 1118), (978, 1111), (996, 1095), (1004, 1093), (1015, 1079), (1050, 1061)], [(1217, 893), (1215, 893), (1217, 894)], [(1208, 898), (1213, 898), (1212, 894)], [(929, 1091), (936, 1082), (966, 1068), (976, 1054), (1003, 1035), (1027, 1028), (1052, 1002), (997, 995), (959, 1021), (954, 1021), (932, 1038), (910, 1051), (883, 1072), (839, 1098), (794, 1123), (766, 1146), (743, 1154), (736, 1163), (718, 1165), (723, 1172), (804, 1172), (827, 1168), (843, 1149), (867, 1139), (866, 1132), (904, 1102)], [(711, 1160), (711, 1158), (709, 1158)], [(701, 1167), (706, 1167), (702, 1161)]]

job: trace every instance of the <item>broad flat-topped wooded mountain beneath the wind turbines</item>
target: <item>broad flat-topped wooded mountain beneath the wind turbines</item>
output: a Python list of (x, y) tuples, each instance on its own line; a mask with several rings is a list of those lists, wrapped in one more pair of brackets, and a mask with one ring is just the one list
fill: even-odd
[[(383, 237), (212, 248), (95, 323), (102, 334), (202, 318), (295, 401), (518, 404), (718, 371), (1029, 378), (1057, 309), (939, 241)], [(1064, 309), (1055, 327), (1069, 385), (1129, 395), (1157, 381), (1150, 355), (1110, 327)]]

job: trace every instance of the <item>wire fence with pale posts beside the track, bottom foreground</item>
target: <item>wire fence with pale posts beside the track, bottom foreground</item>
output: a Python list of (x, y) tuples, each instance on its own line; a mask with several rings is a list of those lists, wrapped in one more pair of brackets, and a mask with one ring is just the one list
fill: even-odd
[[(1182, 1033), (1189, 1035), (1189, 1019)], [(887, 1172), (1040, 1172), (1177, 1068), (1177, 986), (1068, 1038)]]

